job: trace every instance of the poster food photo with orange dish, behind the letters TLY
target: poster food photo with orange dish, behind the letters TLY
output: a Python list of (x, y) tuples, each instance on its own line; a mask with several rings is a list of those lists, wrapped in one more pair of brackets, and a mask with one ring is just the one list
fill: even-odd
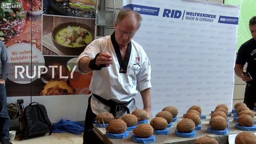
[(40, 95), (90, 94), (92, 73), (80, 73), (76, 57), (44, 56), (44, 59), (47, 73), (40, 78), (45, 83)]

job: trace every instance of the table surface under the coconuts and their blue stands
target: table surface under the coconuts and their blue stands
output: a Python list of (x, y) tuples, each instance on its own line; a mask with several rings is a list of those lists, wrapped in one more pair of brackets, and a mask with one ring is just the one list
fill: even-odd
[[(237, 122), (233, 121), (233, 116), (228, 118), (229, 118), (229, 127), (227, 127), (229, 130), (228, 135), (238, 134), (242, 132), (242, 130), (235, 128), (235, 125)], [(178, 120), (180, 119), (183, 119), (183, 117), (178, 118)], [(210, 127), (209, 121), (210, 121), (210, 115), (207, 115), (206, 119), (201, 119), (201, 130), (196, 131), (195, 137), (189, 137), (189, 138), (176, 136), (174, 131), (176, 129), (175, 125), (177, 125), (177, 121), (173, 122), (173, 127), (169, 128), (170, 134), (167, 134), (167, 135), (155, 134), (154, 136), (156, 136), (156, 141), (154, 143), (194, 144), (194, 141), (196, 139), (206, 135), (215, 137), (219, 141), (219, 143), (228, 143), (228, 135), (217, 135), (217, 134), (209, 133), (207, 131), (207, 128)], [(94, 130), (94, 133), (96, 133), (97, 136), (99, 136), (99, 138), (102, 139), (104, 143), (108, 143), (108, 144), (135, 143), (130, 138), (132, 135), (132, 131), (130, 131), (129, 137), (125, 139), (109, 139), (108, 137), (106, 137), (105, 128), (98, 128), (96, 127), (96, 125), (94, 125), (93, 130)], [(255, 133), (255, 131), (252, 131), (252, 133)]]

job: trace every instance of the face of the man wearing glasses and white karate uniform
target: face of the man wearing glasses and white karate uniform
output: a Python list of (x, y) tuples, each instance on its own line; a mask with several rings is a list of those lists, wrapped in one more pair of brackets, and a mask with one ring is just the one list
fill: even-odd
[(136, 19), (126, 17), (121, 22), (115, 22), (115, 40), (119, 46), (127, 46), (137, 31)]

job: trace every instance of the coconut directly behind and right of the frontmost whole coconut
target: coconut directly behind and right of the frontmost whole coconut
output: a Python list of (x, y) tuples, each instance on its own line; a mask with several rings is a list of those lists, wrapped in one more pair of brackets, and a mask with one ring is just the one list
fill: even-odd
[(162, 117), (156, 117), (151, 119), (150, 125), (154, 128), (154, 130), (165, 130), (168, 122)]

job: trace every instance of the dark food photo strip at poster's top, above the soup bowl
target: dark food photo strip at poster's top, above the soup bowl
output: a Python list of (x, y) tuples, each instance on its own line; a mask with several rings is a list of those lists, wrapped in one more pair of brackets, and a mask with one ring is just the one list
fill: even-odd
[(96, 0), (43, 0), (43, 14), (95, 18)]

